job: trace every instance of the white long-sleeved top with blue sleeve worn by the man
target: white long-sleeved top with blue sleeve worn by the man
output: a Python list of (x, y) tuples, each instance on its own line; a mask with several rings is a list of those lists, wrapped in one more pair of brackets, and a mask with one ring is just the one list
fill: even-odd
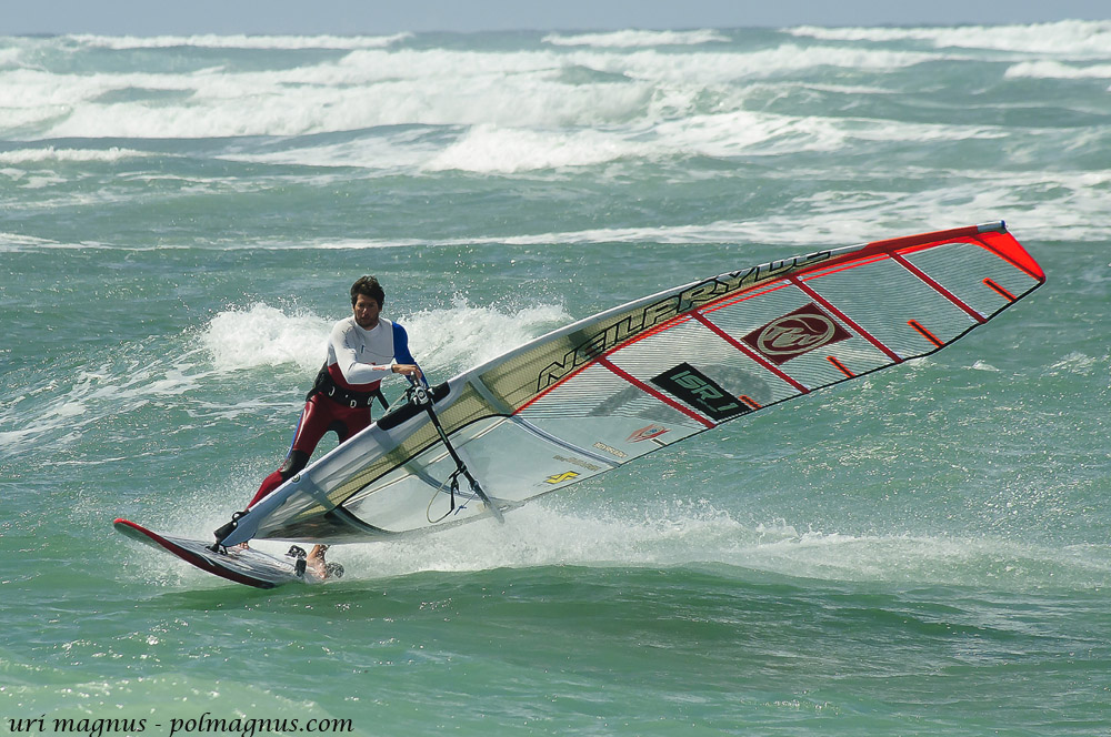
[(394, 375), (394, 363), (417, 363), (409, 352), (409, 335), (398, 323), (379, 317), (374, 327), (363, 330), (351, 316), (332, 327), (328, 373), (343, 388), (372, 392), (382, 378)]

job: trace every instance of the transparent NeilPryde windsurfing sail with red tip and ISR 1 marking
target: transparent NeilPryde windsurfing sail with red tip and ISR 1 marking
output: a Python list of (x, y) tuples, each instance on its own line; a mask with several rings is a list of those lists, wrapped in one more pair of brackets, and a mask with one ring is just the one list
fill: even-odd
[(223, 543), (361, 542), (490, 515), (453, 483), (460, 458), (490, 504), (510, 509), (721, 423), (929, 355), (1044, 281), (995, 222), (660, 292), (433, 387), (433, 412), (396, 405), (252, 507)]

